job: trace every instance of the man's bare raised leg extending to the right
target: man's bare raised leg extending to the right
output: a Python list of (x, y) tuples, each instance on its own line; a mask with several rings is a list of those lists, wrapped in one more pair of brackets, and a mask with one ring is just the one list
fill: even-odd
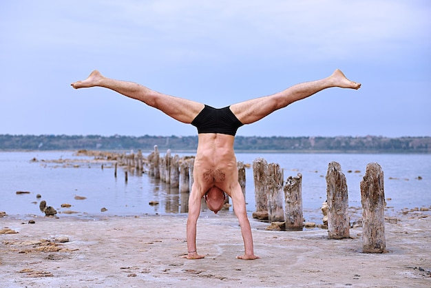
[(343, 72), (337, 69), (325, 79), (299, 83), (270, 96), (233, 104), (231, 111), (242, 124), (250, 124), (295, 101), (333, 87), (359, 89), (361, 84), (348, 80)]

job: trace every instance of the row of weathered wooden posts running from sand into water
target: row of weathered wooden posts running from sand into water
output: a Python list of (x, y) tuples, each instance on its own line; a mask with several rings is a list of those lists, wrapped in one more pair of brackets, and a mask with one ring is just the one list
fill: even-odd
[[(147, 165), (149, 176), (160, 178), (171, 187), (178, 187), (180, 192), (189, 192), (193, 185), (194, 157), (171, 156), (167, 150), (160, 156), (158, 147), (147, 156), (142, 152), (123, 154), (118, 159), (120, 165), (143, 171)], [(116, 175), (116, 169), (115, 169)], [(238, 180), (245, 196), (245, 165), (238, 162)], [(302, 174), (288, 176), (284, 182), (283, 170), (276, 163), (267, 163), (264, 158), (253, 161), (255, 183), (255, 213), (267, 214), (269, 223), (284, 222), (286, 230), (302, 230), (304, 225), (302, 209)], [(127, 181), (127, 172), (125, 174)], [(360, 183), (362, 204), (362, 239), (365, 253), (383, 253), (386, 251), (384, 230), (384, 185), (383, 171), (378, 163), (368, 163), (366, 173)], [(337, 162), (328, 164), (326, 174), (326, 202), (328, 205), (328, 238), (350, 238), (348, 217), (348, 189), (346, 176)], [(227, 199), (229, 201), (229, 199)], [(258, 217), (258, 216), (257, 216)]]

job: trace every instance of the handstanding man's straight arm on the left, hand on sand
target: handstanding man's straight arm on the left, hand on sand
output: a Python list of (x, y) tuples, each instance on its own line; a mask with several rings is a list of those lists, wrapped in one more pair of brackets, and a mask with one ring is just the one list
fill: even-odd
[(200, 259), (205, 256), (199, 255), (196, 249), (196, 224), (200, 214), (200, 193), (193, 185), (189, 196), (189, 216), (187, 218), (187, 259)]

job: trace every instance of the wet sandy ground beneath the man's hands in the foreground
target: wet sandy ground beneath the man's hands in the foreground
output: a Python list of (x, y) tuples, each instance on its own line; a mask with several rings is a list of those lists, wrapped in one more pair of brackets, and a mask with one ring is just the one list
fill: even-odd
[[(34, 220), (34, 224), (28, 223)], [(363, 254), (361, 228), (265, 231), (251, 219), (257, 260), (238, 260), (233, 214), (202, 212), (201, 260), (187, 252), (186, 216), (0, 218), (0, 287), (431, 287), (431, 212), (386, 223), (386, 254)], [(65, 242), (66, 241), (66, 242)]]

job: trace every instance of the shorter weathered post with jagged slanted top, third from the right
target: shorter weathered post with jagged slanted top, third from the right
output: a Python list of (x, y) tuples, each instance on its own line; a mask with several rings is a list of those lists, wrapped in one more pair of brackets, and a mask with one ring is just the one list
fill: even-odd
[(288, 176), (284, 185), (284, 220), (286, 230), (302, 230), (302, 174)]

